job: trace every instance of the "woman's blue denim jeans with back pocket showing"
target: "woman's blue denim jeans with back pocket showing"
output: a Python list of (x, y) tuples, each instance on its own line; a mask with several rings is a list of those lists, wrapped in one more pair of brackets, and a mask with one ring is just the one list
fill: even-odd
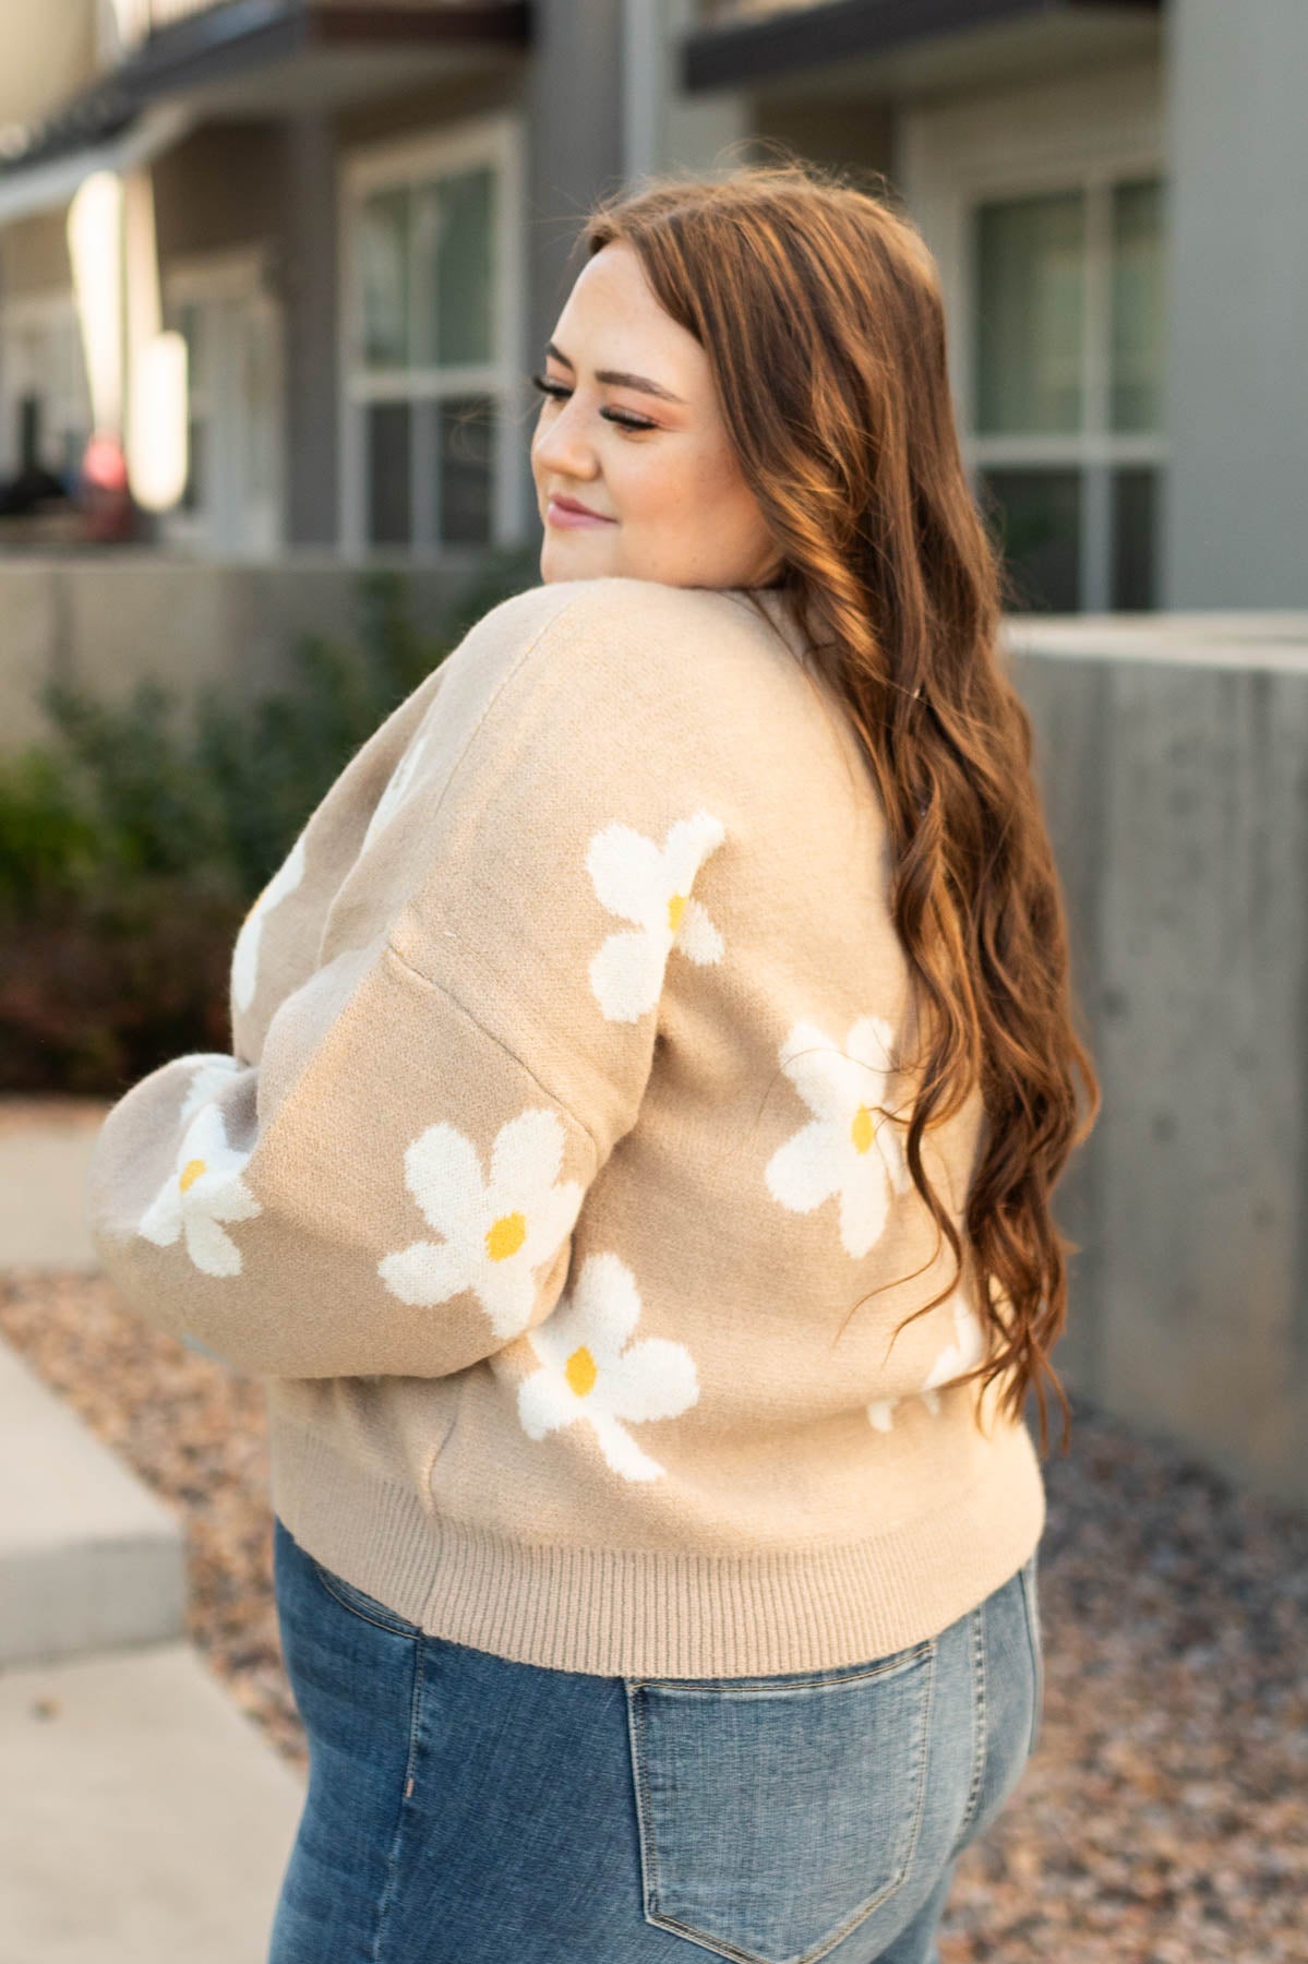
[(890, 1658), (599, 1677), (424, 1636), (275, 1518), (308, 1791), (269, 1964), (935, 1964), (1035, 1746), (1035, 1555)]

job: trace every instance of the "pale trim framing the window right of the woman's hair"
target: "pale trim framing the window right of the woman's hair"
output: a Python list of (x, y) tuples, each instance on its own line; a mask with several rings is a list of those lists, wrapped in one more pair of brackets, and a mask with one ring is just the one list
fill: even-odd
[[(1157, 465), (1167, 485), (1167, 434), (1108, 428), (1108, 338), (1084, 338), (1082, 387), (1088, 430), (1068, 436), (976, 434), (970, 291), (972, 212), (992, 198), (1059, 191), (1086, 192), (1086, 312), (1108, 320), (1108, 222), (1112, 185), (1163, 179), (1163, 79), (1159, 65), (1133, 63), (1035, 88), (972, 96), (905, 110), (898, 126), (898, 183), (941, 269), (949, 316), (949, 363), (958, 440), (968, 473), (1025, 464), (1063, 464), (1084, 473), (1080, 609), (1108, 613), (1110, 471)], [(1167, 275), (1165, 275), (1167, 277)]]

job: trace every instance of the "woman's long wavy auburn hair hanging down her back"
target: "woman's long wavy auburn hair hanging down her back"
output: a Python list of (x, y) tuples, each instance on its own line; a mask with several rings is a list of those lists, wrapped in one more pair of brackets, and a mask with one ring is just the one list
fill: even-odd
[(1011, 1418), (1033, 1389), (1045, 1453), (1047, 1375), (1066, 1451), (1049, 1353), (1076, 1243), (1055, 1228), (1051, 1192), (1100, 1086), (1074, 1029), (1031, 719), (1000, 658), (1011, 595), (958, 450), (935, 261), (880, 175), (866, 191), (790, 153), (601, 198), (577, 244), (593, 257), (615, 240), (709, 357), (780, 585), (880, 790), (921, 1037), (905, 1155), (958, 1273), (960, 1235), (921, 1141), (982, 1092), (964, 1229), (988, 1355), (958, 1383), (1004, 1377)]

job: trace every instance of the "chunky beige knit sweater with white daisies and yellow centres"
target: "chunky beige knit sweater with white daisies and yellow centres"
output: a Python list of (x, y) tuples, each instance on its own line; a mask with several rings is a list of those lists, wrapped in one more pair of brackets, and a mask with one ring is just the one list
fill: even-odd
[[(120, 1098), (88, 1224), (141, 1316), (265, 1375), (293, 1536), (426, 1632), (862, 1662), (1045, 1516), (1025, 1424), (949, 1389), (970, 1281), (892, 1345), (953, 1279), (909, 1037), (880, 805), (780, 593), (534, 587), (326, 793), (232, 1055)], [(927, 1137), (958, 1220), (978, 1125)]]

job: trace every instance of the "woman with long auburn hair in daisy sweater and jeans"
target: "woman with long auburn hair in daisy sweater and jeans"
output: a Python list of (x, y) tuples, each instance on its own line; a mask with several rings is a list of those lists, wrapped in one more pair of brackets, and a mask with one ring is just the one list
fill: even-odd
[(310, 817), (90, 1220), (269, 1383), (271, 1964), (921, 1964), (1037, 1736), (1098, 1104), (1029, 723), (911, 224), (770, 165), (585, 249), (542, 585)]

